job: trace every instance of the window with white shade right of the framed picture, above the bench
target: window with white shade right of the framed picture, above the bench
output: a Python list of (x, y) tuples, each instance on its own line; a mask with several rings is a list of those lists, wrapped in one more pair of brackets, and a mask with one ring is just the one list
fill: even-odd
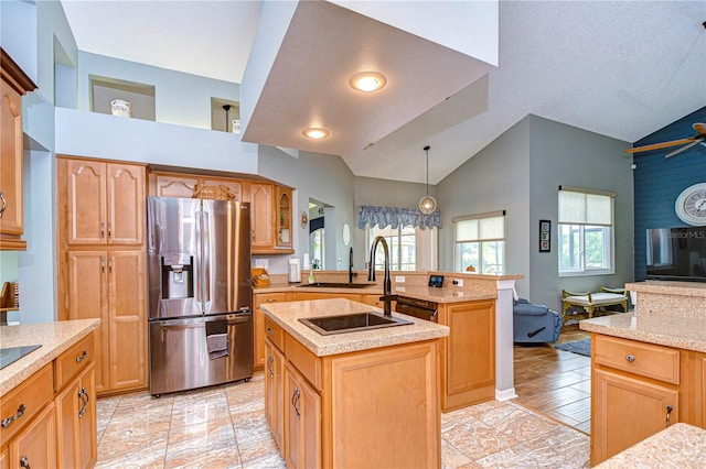
[(614, 194), (559, 186), (559, 275), (613, 273)]

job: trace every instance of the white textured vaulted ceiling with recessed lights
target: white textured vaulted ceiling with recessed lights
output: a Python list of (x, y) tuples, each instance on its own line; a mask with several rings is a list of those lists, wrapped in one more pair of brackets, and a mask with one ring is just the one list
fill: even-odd
[[(78, 48), (86, 52), (234, 83), (242, 83), (248, 57), (258, 59), (250, 47), (259, 1), (62, 3)], [(341, 6), (327, 2), (318, 10), (340, 21), (292, 20), (270, 72), (276, 92), (259, 102), (261, 108), (255, 106), (260, 123), (249, 138), (340, 154), (361, 176), (424, 183), (428, 144), (429, 181), (436, 184), (528, 113), (634, 142), (706, 106), (704, 1), (501, 1), (498, 66), (486, 72), (473, 57)], [(311, 12), (302, 9), (295, 19)], [(377, 32), (355, 41), (351, 33), (357, 26)], [(306, 52), (312, 43), (332, 47)], [(391, 70), (399, 67), (393, 76), (406, 88), (394, 95), (399, 89), (391, 83), (379, 102), (354, 108), (331, 89), (329, 64), (371, 48)], [(288, 70), (307, 67), (315, 77), (309, 83), (285, 79)], [(317, 89), (330, 95), (317, 101)], [(277, 100), (288, 102), (277, 107)], [(345, 129), (345, 139), (319, 149), (297, 144), (298, 110), (323, 112), (327, 106), (333, 111), (329, 121)]]

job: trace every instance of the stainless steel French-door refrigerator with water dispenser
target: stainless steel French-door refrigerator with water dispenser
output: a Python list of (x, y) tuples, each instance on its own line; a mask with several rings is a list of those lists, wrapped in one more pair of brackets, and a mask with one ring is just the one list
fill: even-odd
[(248, 203), (148, 197), (150, 394), (253, 375)]

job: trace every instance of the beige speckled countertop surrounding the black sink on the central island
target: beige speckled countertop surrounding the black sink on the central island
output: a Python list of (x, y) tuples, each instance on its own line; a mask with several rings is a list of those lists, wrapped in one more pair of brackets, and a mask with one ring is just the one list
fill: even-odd
[(318, 357), (437, 339), (449, 335), (447, 326), (398, 313), (393, 313), (393, 316), (411, 320), (414, 324), (322, 336), (298, 320), (306, 317), (340, 314), (383, 313), (382, 309), (374, 306), (344, 298), (267, 303), (260, 307), (265, 310), (267, 317), (281, 326)]

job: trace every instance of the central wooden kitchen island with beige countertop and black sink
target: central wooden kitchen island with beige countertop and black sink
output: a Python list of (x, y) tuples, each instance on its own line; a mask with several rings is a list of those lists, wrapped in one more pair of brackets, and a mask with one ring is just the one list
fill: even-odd
[(345, 298), (263, 305), (265, 414), (288, 467), (440, 467), (440, 339), (411, 324), (320, 335), (301, 318), (373, 312)]

